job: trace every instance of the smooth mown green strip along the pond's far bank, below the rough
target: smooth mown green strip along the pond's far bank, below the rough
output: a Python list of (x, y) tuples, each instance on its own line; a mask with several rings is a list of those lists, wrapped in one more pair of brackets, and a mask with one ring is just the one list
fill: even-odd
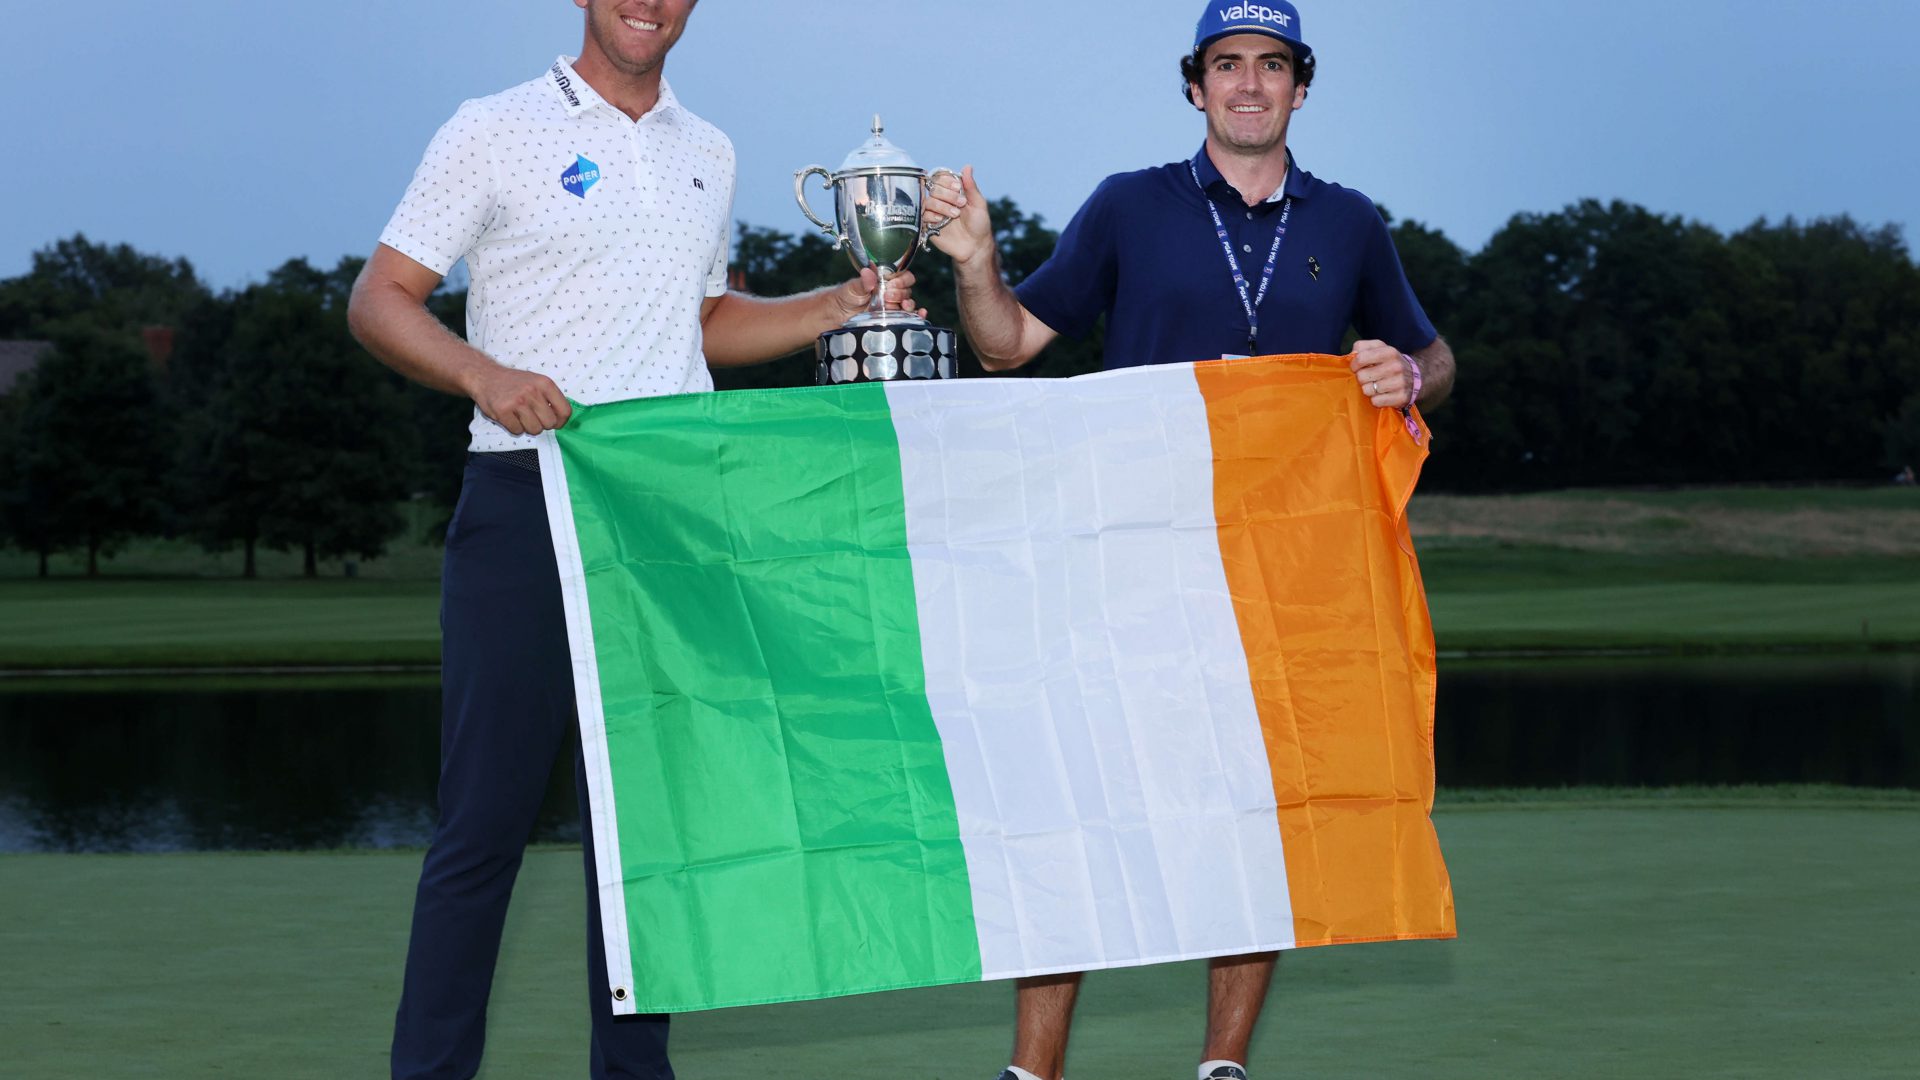
[[(1423, 553), (1450, 651), (1912, 650), (1920, 559)], [(0, 580), (0, 671), (440, 661), (432, 580)]]

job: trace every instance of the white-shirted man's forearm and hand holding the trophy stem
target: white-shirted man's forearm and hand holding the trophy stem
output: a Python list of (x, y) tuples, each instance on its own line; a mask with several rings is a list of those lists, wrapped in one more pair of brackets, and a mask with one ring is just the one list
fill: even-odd
[[(866, 309), (879, 275), (862, 269), (845, 284), (829, 284), (797, 296), (766, 300), (745, 292), (722, 292), (701, 304), (701, 325), (708, 367), (764, 363), (814, 344), (814, 338)], [(912, 309), (914, 275), (887, 279), (887, 307)], [(925, 311), (920, 311), (925, 317)]]

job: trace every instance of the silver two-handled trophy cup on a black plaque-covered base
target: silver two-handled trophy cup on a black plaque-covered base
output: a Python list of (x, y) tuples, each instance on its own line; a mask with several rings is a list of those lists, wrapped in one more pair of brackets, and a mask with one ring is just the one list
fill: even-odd
[[(833, 248), (845, 248), (854, 269), (874, 267), (879, 288), (866, 311), (847, 319), (814, 342), (814, 380), (822, 386), (885, 382), (893, 379), (952, 379), (954, 332), (912, 311), (887, 309), (887, 279), (904, 271), (939, 227), (920, 221), (927, 183), (952, 169), (927, 173), (883, 135), (874, 117), (874, 136), (841, 161), (837, 173), (810, 165), (793, 173), (793, 198), (801, 213), (820, 227)], [(806, 177), (820, 175), (833, 190), (833, 221), (820, 221), (806, 204)]]

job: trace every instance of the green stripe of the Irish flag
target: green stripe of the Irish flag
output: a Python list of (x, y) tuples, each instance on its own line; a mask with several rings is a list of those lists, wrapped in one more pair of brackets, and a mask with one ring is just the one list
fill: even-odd
[(559, 432), (637, 1011), (979, 978), (879, 386)]

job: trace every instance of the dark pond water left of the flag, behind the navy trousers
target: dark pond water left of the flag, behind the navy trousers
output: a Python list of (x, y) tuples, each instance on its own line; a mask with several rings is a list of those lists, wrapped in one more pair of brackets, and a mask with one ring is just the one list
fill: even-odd
[[(413, 847), (432, 676), (0, 684), (0, 851)], [(570, 761), (536, 840), (578, 840)]]

